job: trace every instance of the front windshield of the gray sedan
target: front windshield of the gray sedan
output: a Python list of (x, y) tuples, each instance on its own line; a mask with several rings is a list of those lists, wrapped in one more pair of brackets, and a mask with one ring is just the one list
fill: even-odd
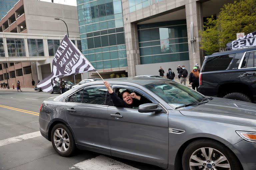
[(155, 82), (144, 86), (173, 108), (189, 103), (200, 103), (205, 99), (205, 96), (200, 93), (176, 82)]

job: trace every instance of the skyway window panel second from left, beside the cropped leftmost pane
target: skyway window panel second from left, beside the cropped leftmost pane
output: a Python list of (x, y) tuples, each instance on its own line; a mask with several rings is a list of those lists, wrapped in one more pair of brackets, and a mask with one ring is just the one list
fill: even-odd
[(7, 38), (6, 42), (9, 57), (26, 56), (24, 39)]

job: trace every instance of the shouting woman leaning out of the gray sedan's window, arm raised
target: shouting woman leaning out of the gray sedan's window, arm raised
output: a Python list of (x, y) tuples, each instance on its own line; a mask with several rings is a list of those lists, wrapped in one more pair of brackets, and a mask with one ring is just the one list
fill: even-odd
[(117, 94), (110, 87), (110, 84), (107, 81), (104, 81), (105, 87), (108, 89), (111, 99), (115, 107), (121, 108), (137, 108), (141, 104), (151, 103), (143, 96), (138, 96), (136, 93), (131, 93), (128, 90), (125, 90), (121, 93), (122, 99), (120, 99)]

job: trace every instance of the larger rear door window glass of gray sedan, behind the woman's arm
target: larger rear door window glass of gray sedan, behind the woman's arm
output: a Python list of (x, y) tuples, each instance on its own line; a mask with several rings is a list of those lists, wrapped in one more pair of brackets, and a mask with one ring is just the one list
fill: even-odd
[(82, 103), (106, 105), (106, 95), (105, 87), (88, 87), (84, 89)]

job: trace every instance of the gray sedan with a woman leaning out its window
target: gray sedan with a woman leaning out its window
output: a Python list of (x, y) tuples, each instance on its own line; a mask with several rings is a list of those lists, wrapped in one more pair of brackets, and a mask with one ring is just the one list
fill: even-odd
[(256, 105), (211, 98), (163, 78), (107, 80), (117, 96), (129, 90), (148, 102), (115, 107), (102, 81), (42, 103), (41, 134), (57, 153), (75, 149), (169, 170), (255, 170)]

